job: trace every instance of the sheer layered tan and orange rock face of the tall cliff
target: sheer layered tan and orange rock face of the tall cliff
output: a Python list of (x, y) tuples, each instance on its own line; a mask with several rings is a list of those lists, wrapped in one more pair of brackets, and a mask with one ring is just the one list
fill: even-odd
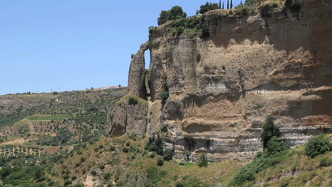
[[(331, 16), (328, 1), (287, 1), (248, 16), (205, 13), (207, 38), (171, 36), (170, 25), (160, 26), (133, 58), (128, 81), (142, 97), (145, 76), (138, 69), (148, 46), (146, 132), (161, 133), (175, 159), (195, 161), (205, 152), (211, 161), (246, 161), (262, 151), (266, 115), (290, 146), (331, 128)], [(170, 96), (162, 105), (165, 84)], [(116, 113), (123, 124), (124, 112)]]

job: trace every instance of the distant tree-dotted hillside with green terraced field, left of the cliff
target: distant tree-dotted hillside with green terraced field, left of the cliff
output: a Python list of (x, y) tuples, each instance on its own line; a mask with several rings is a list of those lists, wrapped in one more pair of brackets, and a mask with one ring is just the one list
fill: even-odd
[(104, 134), (107, 111), (124, 89), (0, 96), (0, 144), (70, 145)]

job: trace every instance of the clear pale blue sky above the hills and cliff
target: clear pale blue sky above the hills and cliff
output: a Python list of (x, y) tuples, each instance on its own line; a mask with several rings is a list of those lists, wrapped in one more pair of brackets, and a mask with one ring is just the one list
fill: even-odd
[(126, 86), (160, 11), (179, 5), (192, 16), (205, 2), (0, 1), (0, 94)]

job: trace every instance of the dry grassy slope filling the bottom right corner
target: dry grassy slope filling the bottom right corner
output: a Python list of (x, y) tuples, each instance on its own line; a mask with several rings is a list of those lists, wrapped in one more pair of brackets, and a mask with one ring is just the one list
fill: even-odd
[(280, 164), (256, 174), (255, 181), (246, 186), (332, 186), (331, 171), (332, 152), (311, 159), (301, 145), (291, 149)]

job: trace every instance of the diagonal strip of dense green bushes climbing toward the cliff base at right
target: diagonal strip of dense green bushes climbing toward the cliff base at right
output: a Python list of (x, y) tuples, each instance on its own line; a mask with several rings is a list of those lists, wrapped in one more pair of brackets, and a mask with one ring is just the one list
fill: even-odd
[(289, 148), (284, 145), (284, 142), (279, 142), (276, 137), (271, 137), (265, 152), (259, 153), (252, 162), (240, 169), (228, 183), (228, 186), (243, 186), (244, 183), (255, 180), (255, 174), (280, 163), (287, 157), (288, 151)]

